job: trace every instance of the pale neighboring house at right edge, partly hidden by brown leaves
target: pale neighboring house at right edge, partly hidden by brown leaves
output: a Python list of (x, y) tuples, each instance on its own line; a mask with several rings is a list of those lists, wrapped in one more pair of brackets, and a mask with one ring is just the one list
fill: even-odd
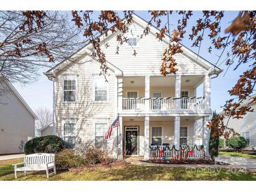
[[(256, 147), (256, 103), (252, 103), (255, 97), (256, 94), (241, 103), (241, 106), (249, 104), (248, 106), (254, 110), (253, 112), (248, 112), (243, 118), (230, 118), (228, 123), (229, 128), (233, 128), (242, 137), (245, 137), (248, 145), (247, 149)], [(227, 123), (227, 121), (228, 117), (225, 117), (224, 123)]]

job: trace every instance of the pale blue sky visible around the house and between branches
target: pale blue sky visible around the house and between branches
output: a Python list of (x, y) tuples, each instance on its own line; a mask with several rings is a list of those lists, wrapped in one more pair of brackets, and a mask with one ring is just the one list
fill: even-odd
[[(149, 14), (147, 11), (136, 11), (137, 15), (140, 15), (145, 20), (149, 20)], [(195, 16), (201, 15), (201, 12), (194, 13)], [(225, 29), (232, 20), (237, 15), (237, 11), (226, 11), (224, 13), (224, 18), (222, 19), (222, 28)], [(175, 16), (171, 16), (170, 20), (173, 20), (173, 25), (176, 24), (177, 18)], [(188, 23), (189, 28), (191, 29), (192, 25), (196, 23), (196, 17), (192, 17), (190, 22)], [(185, 36), (184, 40), (182, 41), (184, 46), (187, 46), (191, 50), (194, 50), (196, 53), (198, 52), (198, 48), (191, 48), (191, 41)], [(208, 47), (210, 45), (210, 41), (203, 40), (201, 45), (201, 50), (199, 55), (204, 57), (209, 62), (215, 64), (217, 62), (217, 55), (220, 54), (213, 50), (210, 54), (208, 53)], [(225, 56), (225, 55), (224, 55)], [(220, 60), (224, 60), (224, 57)], [(219, 65), (220, 62), (217, 64)], [(242, 64), (241, 67), (238, 67), (236, 71), (234, 71), (234, 67), (230, 67), (227, 71), (227, 74), (224, 73), (227, 70), (227, 66), (225, 66), (224, 62), (220, 65), (221, 69), (224, 69), (222, 74), (217, 78), (212, 79), (211, 82), (211, 104), (212, 109), (220, 111), (220, 106), (224, 105), (226, 100), (229, 100), (229, 94), (227, 90), (230, 90), (232, 86), (236, 83), (238, 76), (243, 73), (246, 69), (248, 69), (247, 64)], [(43, 75), (44, 71), (47, 71), (47, 68), (42, 68), (39, 73), (39, 79), (34, 83), (30, 83), (28, 85), (20, 85), (18, 83), (14, 84), (15, 88), (20, 92), (20, 95), (25, 99), (25, 101), (29, 104), (29, 106), (35, 110), (39, 107), (46, 107), (48, 109), (52, 109), (53, 106), (53, 83), (49, 81), (48, 78)], [(100, 68), (99, 68), (100, 73)]]

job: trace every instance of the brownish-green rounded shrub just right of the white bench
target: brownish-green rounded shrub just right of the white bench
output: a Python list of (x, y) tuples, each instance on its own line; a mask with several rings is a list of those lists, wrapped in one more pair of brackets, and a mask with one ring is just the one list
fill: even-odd
[(83, 165), (88, 165), (87, 160), (76, 155), (72, 149), (65, 149), (56, 155), (57, 170), (68, 170), (69, 168), (81, 167)]

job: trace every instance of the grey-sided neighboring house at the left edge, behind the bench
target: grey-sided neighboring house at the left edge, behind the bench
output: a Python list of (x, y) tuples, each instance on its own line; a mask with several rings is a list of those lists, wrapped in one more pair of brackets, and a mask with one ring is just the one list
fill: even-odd
[(0, 154), (22, 153), (34, 137), (36, 114), (13, 85), (0, 77)]

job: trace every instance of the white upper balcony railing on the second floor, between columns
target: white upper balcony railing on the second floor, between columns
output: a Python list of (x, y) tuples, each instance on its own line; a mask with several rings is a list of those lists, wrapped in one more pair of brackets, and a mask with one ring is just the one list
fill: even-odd
[(144, 111), (145, 100), (149, 100), (150, 111), (168, 111), (175, 109), (175, 102), (180, 102), (181, 109), (203, 109), (203, 97), (157, 97), (157, 98), (123, 98), (123, 110)]

